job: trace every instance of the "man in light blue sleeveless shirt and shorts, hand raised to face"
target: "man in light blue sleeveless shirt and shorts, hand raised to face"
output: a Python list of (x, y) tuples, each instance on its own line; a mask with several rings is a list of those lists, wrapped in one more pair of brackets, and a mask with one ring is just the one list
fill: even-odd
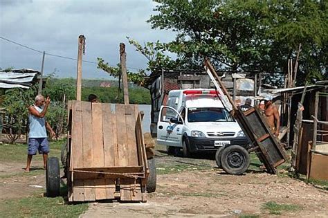
[(32, 162), (33, 155), (42, 154), (44, 158), (44, 169), (46, 169), (46, 161), (50, 151), (48, 144), (48, 136), (46, 129), (50, 131), (51, 136), (55, 137), (55, 131), (46, 122), (46, 112), (50, 105), (50, 98), (44, 100), (44, 96), (38, 95), (35, 97), (35, 104), (28, 107), (28, 121), (30, 131), (28, 134), (28, 158), (25, 172), (30, 172), (30, 163)]

